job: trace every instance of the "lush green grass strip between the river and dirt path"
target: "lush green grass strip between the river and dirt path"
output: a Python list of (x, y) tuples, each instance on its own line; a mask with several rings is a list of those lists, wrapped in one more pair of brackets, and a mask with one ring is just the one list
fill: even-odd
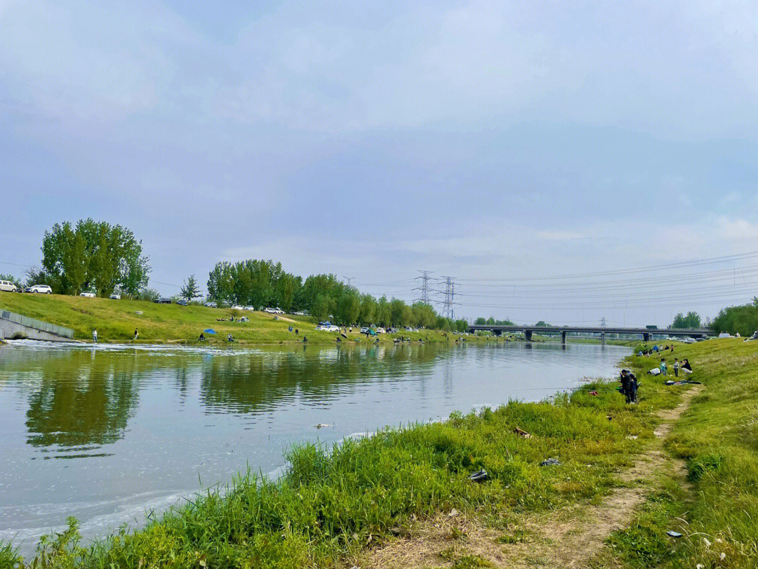
[[(206, 492), (95, 545), (77, 542), (74, 524), (43, 542), (37, 561), (5, 550), (0, 567), (334, 567), (408, 527), (412, 516), (450, 508), (478, 512), (506, 530), (508, 512), (546, 511), (609, 492), (615, 471), (652, 440), (652, 411), (678, 402), (659, 384), (644, 383), (632, 407), (615, 385), (600, 382), (552, 403), (511, 402), (331, 448), (300, 446), (288, 453), (289, 470), (277, 482), (247, 473), (227, 492)], [(532, 438), (516, 435), (517, 426)], [(540, 467), (548, 457), (561, 464)], [(469, 481), (480, 468), (490, 479)]]

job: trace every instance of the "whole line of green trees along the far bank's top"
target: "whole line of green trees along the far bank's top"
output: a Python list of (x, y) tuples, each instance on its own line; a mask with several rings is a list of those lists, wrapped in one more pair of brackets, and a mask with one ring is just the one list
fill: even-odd
[[(56, 223), (42, 237), (42, 266), (27, 271), (27, 285), (49, 285), (55, 294), (94, 291), (107, 297), (114, 291), (133, 298), (155, 300), (148, 288), (151, 271), (142, 241), (130, 229), (92, 218)], [(20, 279), (0, 275), (21, 286)], [(180, 296), (202, 296), (194, 275), (184, 281)], [(398, 298), (374, 298), (335, 275), (302, 278), (287, 272), (280, 262), (246, 259), (217, 262), (208, 274), (208, 300), (287, 312), (307, 311), (318, 320), (340, 325), (382, 325), (436, 328), (465, 332), (465, 320), (443, 318), (425, 303), (408, 304)]]

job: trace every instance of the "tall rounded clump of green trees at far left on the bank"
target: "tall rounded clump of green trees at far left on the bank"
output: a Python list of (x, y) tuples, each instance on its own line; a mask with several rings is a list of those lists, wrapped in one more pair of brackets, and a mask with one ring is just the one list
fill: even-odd
[(121, 225), (92, 218), (80, 219), (76, 226), (56, 223), (42, 238), (44, 280), (61, 294), (94, 288), (108, 296), (116, 287), (136, 294), (147, 285), (150, 272), (142, 253), (142, 242)]

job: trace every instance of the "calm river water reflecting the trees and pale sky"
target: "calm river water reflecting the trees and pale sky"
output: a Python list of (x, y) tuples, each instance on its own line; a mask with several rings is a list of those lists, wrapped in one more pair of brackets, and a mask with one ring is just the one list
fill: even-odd
[(402, 344), (202, 349), (0, 347), (0, 540), (33, 551), (67, 516), (85, 536), (139, 523), (283, 451), (454, 410), (536, 401), (609, 377), (628, 348)]

